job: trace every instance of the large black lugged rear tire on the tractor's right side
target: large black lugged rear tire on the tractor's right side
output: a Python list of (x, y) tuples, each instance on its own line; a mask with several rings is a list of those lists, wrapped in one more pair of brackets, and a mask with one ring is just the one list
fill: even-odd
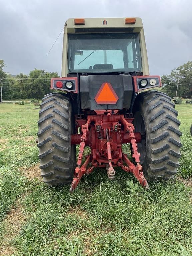
[(142, 133), (137, 143), (146, 178), (174, 178), (181, 157), (180, 121), (175, 104), (165, 93), (147, 91), (140, 93), (134, 104), (135, 132)]

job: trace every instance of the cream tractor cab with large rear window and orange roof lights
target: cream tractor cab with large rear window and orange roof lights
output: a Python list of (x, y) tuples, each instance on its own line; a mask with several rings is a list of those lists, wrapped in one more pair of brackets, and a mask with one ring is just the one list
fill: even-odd
[(149, 75), (141, 18), (67, 20), (62, 77), (99, 72)]

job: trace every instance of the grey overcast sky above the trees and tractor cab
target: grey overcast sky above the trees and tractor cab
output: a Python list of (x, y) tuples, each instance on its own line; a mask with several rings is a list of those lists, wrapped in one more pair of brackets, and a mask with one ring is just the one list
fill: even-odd
[(34, 68), (61, 75), (63, 33), (68, 18), (141, 17), (150, 74), (169, 74), (192, 61), (191, 0), (0, 0), (0, 59), (6, 72)]

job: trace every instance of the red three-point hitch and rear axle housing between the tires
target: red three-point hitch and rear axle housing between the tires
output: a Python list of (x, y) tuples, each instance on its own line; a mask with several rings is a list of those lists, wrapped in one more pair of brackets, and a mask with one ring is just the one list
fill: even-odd
[[(71, 136), (71, 143), (80, 144), (80, 148), (70, 192), (77, 187), (82, 176), (92, 172), (95, 167), (106, 167), (109, 179), (114, 179), (113, 167), (119, 166), (124, 171), (133, 173), (143, 187), (149, 188), (140, 165), (140, 154), (137, 151), (137, 142), (141, 141), (141, 135), (134, 134), (134, 126), (131, 123), (133, 119), (111, 112), (103, 111), (103, 113), (88, 116), (87, 121), (76, 120), (76, 128), (81, 127), (82, 134)], [(136, 166), (122, 152), (123, 143), (131, 143), (132, 157), (135, 159)], [(86, 156), (84, 164), (81, 165), (85, 146), (91, 148), (91, 153)], [(91, 166), (87, 168), (89, 164)]]

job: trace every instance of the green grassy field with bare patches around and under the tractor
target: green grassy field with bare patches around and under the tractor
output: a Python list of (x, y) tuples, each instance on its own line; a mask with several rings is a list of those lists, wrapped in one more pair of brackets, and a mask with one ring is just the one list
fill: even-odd
[(110, 182), (96, 170), (70, 194), (69, 186), (42, 183), (38, 109), (0, 105), (0, 255), (191, 256), (192, 104), (176, 109), (183, 132), (176, 182), (145, 191), (131, 174), (117, 170)]

